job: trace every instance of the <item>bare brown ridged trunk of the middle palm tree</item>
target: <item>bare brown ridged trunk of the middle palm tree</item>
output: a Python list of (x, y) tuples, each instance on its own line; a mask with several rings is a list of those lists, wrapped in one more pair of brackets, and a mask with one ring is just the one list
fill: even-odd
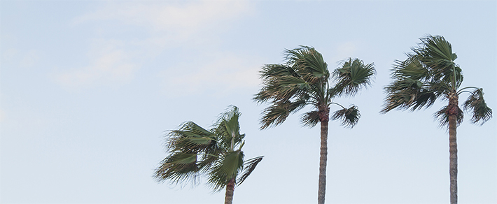
[(319, 152), (319, 182), (318, 182), (318, 204), (324, 204), (326, 193), (326, 162), (328, 161), (328, 121), (330, 120), (330, 108), (319, 110), (321, 122), (321, 151)]

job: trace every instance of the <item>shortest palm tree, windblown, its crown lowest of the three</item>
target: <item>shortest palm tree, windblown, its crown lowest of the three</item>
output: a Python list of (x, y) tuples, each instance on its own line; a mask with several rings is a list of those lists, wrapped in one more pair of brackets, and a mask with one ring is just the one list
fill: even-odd
[(169, 131), (166, 144), (171, 154), (160, 162), (155, 179), (196, 184), (200, 175), (207, 175), (214, 191), (226, 187), (225, 203), (232, 203), (235, 185), (244, 182), (263, 157), (244, 159), (241, 147), (245, 134), (239, 132), (240, 115), (238, 108), (232, 106), (210, 130), (185, 122), (180, 129)]

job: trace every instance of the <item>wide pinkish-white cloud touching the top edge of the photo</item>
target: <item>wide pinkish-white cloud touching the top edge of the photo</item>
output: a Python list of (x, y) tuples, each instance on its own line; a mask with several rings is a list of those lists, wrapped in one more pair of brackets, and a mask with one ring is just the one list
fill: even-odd
[[(181, 3), (178, 3), (181, 2)], [(75, 23), (117, 20), (123, 24), (145, 27), (176, 39), (185, 39), (200, 29), (246, 13), (247, 1), (133, 1), (105, 6), (76, 18)]]

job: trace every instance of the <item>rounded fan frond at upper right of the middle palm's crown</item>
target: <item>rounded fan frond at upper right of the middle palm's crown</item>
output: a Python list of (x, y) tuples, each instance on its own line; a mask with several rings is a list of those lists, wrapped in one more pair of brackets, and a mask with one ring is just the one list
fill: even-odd
[(361, 87), (371, 85), (371, 78), (376, 74), (373, 64), (364, 64), (360, 59), (344, 61), (342, 68), (333, 71), (333, 78), (337, 80), (335, 92), (339, 95), (353, 96)]

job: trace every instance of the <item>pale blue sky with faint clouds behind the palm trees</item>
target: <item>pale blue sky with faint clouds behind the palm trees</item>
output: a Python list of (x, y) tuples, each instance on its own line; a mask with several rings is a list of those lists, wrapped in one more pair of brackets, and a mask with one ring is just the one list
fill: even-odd
[[(326, 203), (449, 203), (448, 131), (433, 113), (380, 114), (395, 60), (444, 36), (497, 110), (497, 1), (0, 1), (0, 203), (221, 203), (205, 179), (155, 182), (165, 134), (240, 112), (234, 203), (316, 203), (319, 128), (260, 130), (258, 71), (313, 46), (330, 71), (374, 63), (353, 129), (330, 122)], [(461, 95), (460, 103), (467, 95)], [(331, 110), (338, 110), (332, 107)], [(497, 120), (458, 126), (459, 203), (497, 203)]]

